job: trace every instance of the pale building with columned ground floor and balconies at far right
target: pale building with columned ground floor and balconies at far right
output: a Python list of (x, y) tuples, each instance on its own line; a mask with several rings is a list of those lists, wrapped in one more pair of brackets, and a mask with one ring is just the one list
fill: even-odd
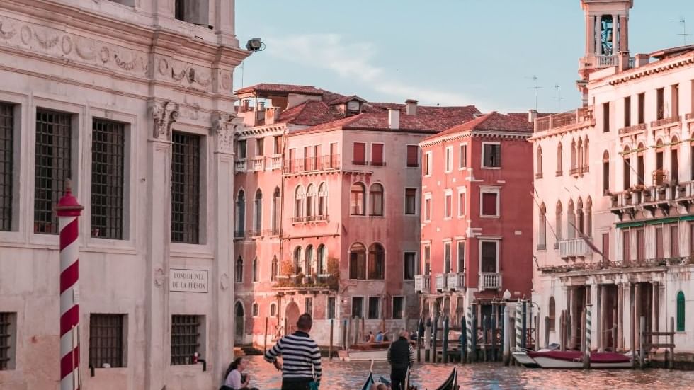
[[(534, 242), (540, 263), (534, 298), (550, 319), (542, 333), (557, 342), (562, 311), (580, 319), (589, 305), (599, 335), (593, 348), (639, 350), (644, 317), (644, 331), (669, 330), (673, 319), (676, 350), (690, 352), (694, 51), (675, 47), (635, 58), (618, 53), (610, 61), (589, 77), (590, 105), (535, 125), (535, 153), (542, 156), (536, 171), (540, 164), (543, 170), (559, 166), (554, 159), (569, 139), (576, 147), (572, 166), (581, 147), (586, 154), (569, 177), (535, 180), (538, 197), (556, 204), (554, 218), (535, 208), (536, 229), (553, 231), (545, 240), (555, 246), (541, 251), (542, 234)], [(579, 321), (570, 321), (569, 347), (578, 345), (582, 331)]]

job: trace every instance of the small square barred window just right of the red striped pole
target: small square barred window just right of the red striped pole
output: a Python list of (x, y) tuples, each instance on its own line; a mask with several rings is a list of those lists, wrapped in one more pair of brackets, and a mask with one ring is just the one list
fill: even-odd
[(123, 360), (123, 314), (89, 316), (89, 366), (125, 367)]

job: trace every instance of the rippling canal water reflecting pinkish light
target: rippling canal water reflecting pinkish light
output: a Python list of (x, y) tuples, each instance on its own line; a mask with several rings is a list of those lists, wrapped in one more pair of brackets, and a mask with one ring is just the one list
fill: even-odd
[[(280, 372), (261, 356), (251, 356), (251, 386), (279, 390)], [(360, 389), (369, 371), (369, 362), (323, 360), (324, 380), (320, 390)], [(692, 389), (694, 372), (665, 369), (631, 370), (547, 370), (504, 367), (498, 364), (456, 365), (460, 389)], [(423, 390), (436, 389), (453, 365), (415, 365), (412, 384)], [(389, 379), (386, 362), (376, 362), (374, 377)]]

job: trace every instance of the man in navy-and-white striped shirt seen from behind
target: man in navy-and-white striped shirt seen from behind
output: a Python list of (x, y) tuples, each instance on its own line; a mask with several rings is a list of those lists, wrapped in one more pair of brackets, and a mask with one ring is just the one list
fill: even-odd
[[(321, 380), (321, 352), (309, 336), (313, 320), (310, 314), (302, 314), (297, 321), (298, 330), (278, 340), (265, 353), (265, 360), (282, 370), (282, 390), (309, 390), (311, 383)], [(277, 358), (282, 356), (280, 363)]]

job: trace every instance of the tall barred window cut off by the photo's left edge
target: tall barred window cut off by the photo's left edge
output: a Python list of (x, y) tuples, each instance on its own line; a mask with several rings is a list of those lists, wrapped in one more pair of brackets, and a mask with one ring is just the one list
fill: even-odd
[(0, 231), (12, 229), (14, 107), (0, 103)]

